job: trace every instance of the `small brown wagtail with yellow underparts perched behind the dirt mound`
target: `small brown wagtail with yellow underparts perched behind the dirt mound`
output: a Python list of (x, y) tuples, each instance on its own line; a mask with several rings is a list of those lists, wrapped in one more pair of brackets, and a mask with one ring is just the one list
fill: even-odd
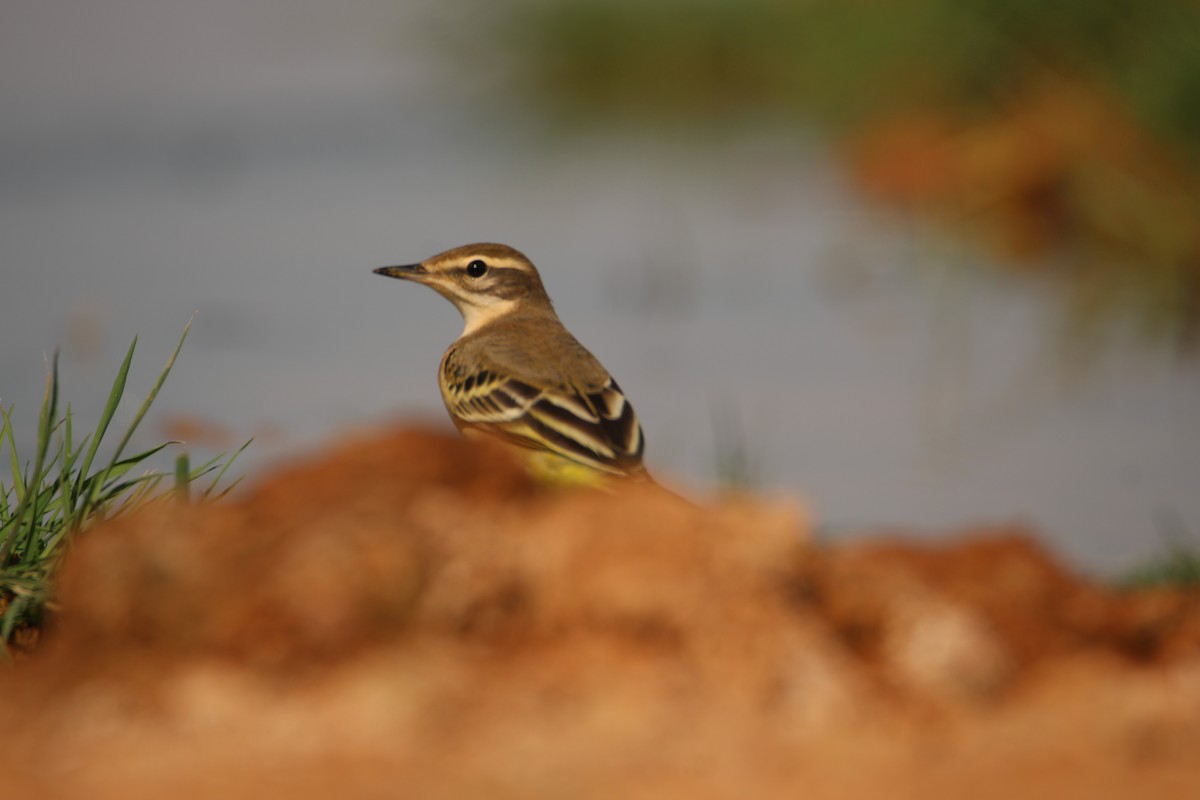
[(462, 314), (438, 386), (463, 435), (509, 445), (546, 482), (654, 483), (634, 407), (559, 320), (524, 254), (482, 242), (374, 272), (427, 285)]

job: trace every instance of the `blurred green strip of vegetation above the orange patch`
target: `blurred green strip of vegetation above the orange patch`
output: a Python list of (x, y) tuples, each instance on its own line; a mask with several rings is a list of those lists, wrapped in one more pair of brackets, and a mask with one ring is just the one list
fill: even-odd
[[(1200, 143), (1200, 6), (1178, 0), (572, 0), (509, 4), (521, 85), (560, 110), (986, 112), (1045, 71), (1087, 74)], [(1195, 155), (1195, 154), (1193, 154)]]

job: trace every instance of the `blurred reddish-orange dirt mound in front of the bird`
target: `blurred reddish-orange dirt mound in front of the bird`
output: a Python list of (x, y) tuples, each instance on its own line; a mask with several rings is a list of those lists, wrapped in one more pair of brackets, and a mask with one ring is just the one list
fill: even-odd
[(89, 531), (13, 796), (1200, 796), (1200, 600), (404, 429)]

